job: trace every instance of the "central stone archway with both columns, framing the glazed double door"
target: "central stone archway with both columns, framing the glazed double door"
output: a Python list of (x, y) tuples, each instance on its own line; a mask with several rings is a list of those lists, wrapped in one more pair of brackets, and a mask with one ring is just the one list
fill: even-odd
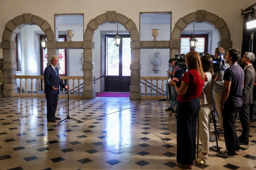
[[(116, 13), (116, 11), (107, 11), (104, 14), (92, 19), (84, 33), (83, 51), (84, 51), (84, 85), (83, 85), (83, 98), (95, 98), (95, 84), (94, 84), (94, 42), (92, 41), (95, 31), (104, 23), (120, 23), (124, 25), (125, 29), (129, 31), (131, 36), (131, 86), (130, 86), (130, 99), (141, 99), (140, 87), (140, 35), (136, 28), (135, 23), (126, 16)], [(137, 44), (137, 45), (136, 45)]]

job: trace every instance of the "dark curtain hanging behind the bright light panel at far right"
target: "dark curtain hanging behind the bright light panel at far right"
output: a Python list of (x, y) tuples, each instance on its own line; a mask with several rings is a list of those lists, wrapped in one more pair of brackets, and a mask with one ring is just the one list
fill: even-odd
[[(245, 52), (252, 52), (255, 54), (256, 49), (256, 32), (254, 33), (254, 40), (253, 40), (253, 51), (251, 51), (252, 41), (251, 41), (251, 33), (247, 32), (246, 23), (251, 20), (251, 18), (255, 18), (253, 16), (254, 9), (248, 9), (242, 13), (243, 16), (243, 32), (242, 32), (242, 48), (241, 48), (241, 57), (244, 55)], [(256, 63), (253, 62), (253, 67), (255, 68)]]

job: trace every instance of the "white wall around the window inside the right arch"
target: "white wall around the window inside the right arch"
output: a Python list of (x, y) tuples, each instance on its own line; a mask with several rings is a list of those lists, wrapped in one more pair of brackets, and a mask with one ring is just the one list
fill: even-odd
[[(188, 24), (188, 26), (184, 29), (184, 31), (192, 31), (193, 32), (193, 27), (194, 27), (194, 24), (193, 23), (190, 23)], [(218, 47), (217, 43), (219, 41), (219, 38), (218, 38), (218, 34), (217, 32), (211, 27), (211, 25), (207, 24), (207, 23), (196, 23), (195, 22), (195, 31), (199, 31), (200, 30), (212, 30), (212, 46), (210, 46), (210, 51), (209, 53), (214, 55), (214, 51), (215, 51), (215, 48)], [(197, 34), (197, 33), (195, 33)], [(209, 36), (208, 36), (208, 40), (209, 40)], [(209, 45), (209, 43), (208, 43)], [(209, 50), (209, 48), (208, 48)]]

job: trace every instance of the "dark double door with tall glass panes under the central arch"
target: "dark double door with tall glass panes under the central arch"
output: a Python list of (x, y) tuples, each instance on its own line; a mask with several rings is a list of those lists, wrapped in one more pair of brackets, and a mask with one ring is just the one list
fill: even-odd
[(120, 35), (121, 42), (115, 46), (115, 35), (105, 35), (105, 91), (129, 92), (131, 85), (131, 37)]

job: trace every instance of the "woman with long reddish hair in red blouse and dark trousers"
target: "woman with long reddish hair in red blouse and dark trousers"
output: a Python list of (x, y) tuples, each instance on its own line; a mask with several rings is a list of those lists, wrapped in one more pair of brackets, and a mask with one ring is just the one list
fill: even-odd
[[(205, 82), (200, 56), (191, 51), (186, 54), (188, 71), (181, 83), (173, 78), (171, 86), (178, 93), (177, 107), (177, 163), (176, 166), (192, 169), (196, 159), (196, 122), (200, 110), (199, 96)], [(179, 82), (179, 83), (178, 83)]]

